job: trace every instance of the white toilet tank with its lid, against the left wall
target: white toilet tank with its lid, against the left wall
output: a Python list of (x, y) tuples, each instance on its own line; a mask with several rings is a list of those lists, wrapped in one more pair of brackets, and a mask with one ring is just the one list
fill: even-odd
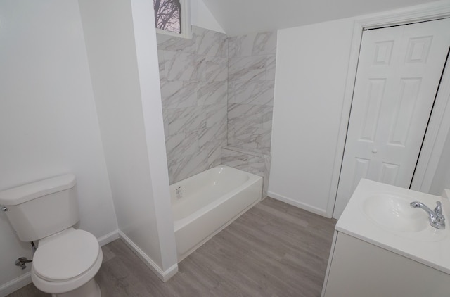
[(36, 241), (79, 220), (75, 175), (61, 175), (0, 192), (0, 206), (21, 241)]

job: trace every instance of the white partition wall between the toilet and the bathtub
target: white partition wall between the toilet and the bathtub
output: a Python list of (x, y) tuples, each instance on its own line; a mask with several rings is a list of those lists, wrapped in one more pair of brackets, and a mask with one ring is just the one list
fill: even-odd
[(157, 270), (176, 271), (153, 7), (79, 6), (119, 228)]

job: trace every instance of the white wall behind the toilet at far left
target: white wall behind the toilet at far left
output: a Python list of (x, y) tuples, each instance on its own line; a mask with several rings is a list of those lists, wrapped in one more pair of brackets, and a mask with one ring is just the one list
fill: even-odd
[[(79, 227), (117, 230), (77, 1), (0, 1), (0, 190), (77, 175)], [(0, 296), (31, 257), (0, 214)], [(30, 267), (30, 265), (28, 265)], [(7, 282), (10, 282), (6, 284)]]

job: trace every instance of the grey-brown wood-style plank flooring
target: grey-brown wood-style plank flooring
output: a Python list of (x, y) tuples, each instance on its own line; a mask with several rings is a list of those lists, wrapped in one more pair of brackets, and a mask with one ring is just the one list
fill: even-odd
[[(336, 220), (266, 198), (179, 263), (163, 283), (120, 239), (103, 246), (103, 297), (321, 295)], [(50, 296), (33, 284), (9, 297)]]

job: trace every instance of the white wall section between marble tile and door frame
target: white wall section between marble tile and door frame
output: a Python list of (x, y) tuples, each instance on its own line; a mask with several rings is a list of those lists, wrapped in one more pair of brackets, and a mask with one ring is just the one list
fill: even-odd
[(278, 30), (269, 196), (326, 214), (353, 20)]

